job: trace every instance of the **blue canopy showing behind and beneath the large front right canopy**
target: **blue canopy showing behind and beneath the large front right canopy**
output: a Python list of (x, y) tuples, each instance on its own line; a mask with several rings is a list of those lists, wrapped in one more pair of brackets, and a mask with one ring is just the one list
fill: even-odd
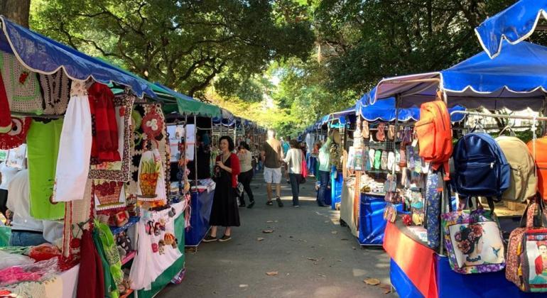
[[(368, 94), (364, 94), (357, 101), (357, 111), (364, 120), (367, 121), (395, 121), (396, 109), (395, 98), (390, 97), (377, 101), (372, 105), (367, 104), (369, 99)], [(451, 114), (450, 120), (453, 122), (462, 121), (465, 118), (464, 114), (452, 114), (454, 111), (465, 111), (463, 106), (454, 106), (448, 109)], [(420, 108), (412, 106), (407, 109), (399, 109), (399, 121), (418, 121), (420, 120)]]

